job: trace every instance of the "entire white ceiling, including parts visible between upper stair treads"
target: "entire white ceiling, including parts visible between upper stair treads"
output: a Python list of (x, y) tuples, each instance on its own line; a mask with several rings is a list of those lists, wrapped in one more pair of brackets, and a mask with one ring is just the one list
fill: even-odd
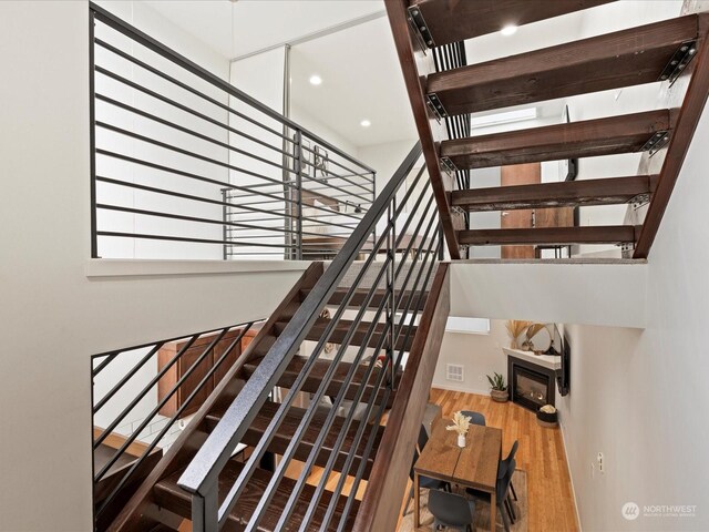
[[(294, 42), (383, 11), (382, 0), (147, 0), (146, 3), (226, 58)], [(613, 19), (612, 8), (608, 9), (608, 18)], [(586, 33), (584, 20), (584, 12), (579, 11), (521, 27), (512, 37), (494, 33), (466, 41), (467, 62), (491, 61), (578, 39)], [(621, 25), (634, 22), (614, 20)], [(312, 74), (322, 78), (321, 85), (308, 82)], [(296, 121), (297, 112), (306, 113), (354, 146), (417, 137), (386, 17), (294, 45), (291, 103)], [(542, 102), (537, 108), (538, 120), (556, 122), (561, 120), (564, 102)], [(496, 112), (500, 110), (490, 113)], [(371, 121), (370, 127), (360, 125), (363, 119)], [(528, 125), (520, 122), (505, 129), (524, 126)], [(485, 132), (477, 130), (474, 134)]]

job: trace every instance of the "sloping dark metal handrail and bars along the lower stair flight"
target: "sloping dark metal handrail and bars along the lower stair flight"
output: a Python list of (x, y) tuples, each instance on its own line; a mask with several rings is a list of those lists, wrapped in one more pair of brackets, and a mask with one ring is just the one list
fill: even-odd
[[(296, 487), (291, 490), (278, 518), (276, 530), (281, 530), (292, 514), (298, 497), (312, 471), (316, 458), (322, 451), (325, 438), (332, 428), (336, 412), (342, 406), (348, 390), (356, 388), (357, 391), (351, 405), (359, 403), (363, 407), (361, 419), (369, 420), (369, 423), (360, 423), (353, 441), (349, 444), (352, 450), (360, 449), (363, 444), (363, 456), (358, 458), (359, 463), (356, 466), (354, 456), (357, 453), (353, 451), (349, 453), (347, 463), (342, 467), (339, 481), (333, 489), (333, 494), (330, 495), (329, 507), (325, 515), (318, 515), (318, 523), (320, 530), (343, 530), (348, 519), (351, 519), (358, 487), (374, 444), (377, 431), (373, 429), (380, 424), (384, 407), (398, 387), (407, 340), (410, 339), (412, 327), (417, 323), (417, 313), (422, 308), (443, 249), (438, 212), (433, 203), (429, 180), (424, 175), (425, 168), (421, 167), (414, 172), (420, 155), (421, 146), (417, 144), (377, 197), (345, 247), (302, 301), (300, 308), (222, 417), (219, 424), (181, 477), (178, 484), (193, 497), (193, 530), (214, 532), (226, 524), (229, 513), (238, 504), (239, 497), (244, 493), (249, 478), (284, 421), (299, 389), (316, 362), (322, 359), (323, 349), (330, 341), (330, 336), (338, 324), (347, 324), (347, 332), (333, 356), (326, 358), (329, 367), (322, 377), (319, 389), (310, 398), (310, 406), (288, 448), (282, 453), (263, 498), (255, 503), (255, 510), (245, 530), (258, 530), (259, 522), (269, 511), (271, 497), (284, 479), (288, 466), (292, 463), (296, 449), (310, 423), (310, 419), (346, 355), (348, 355), (348, 361), (351, 366), (349, 366), (340, 391), (331, 398), (330, 413), (302, 466)], [(373, 249), (368, 249), (368, 242), (371, 242), (377, 225), (383, 225), (383, 228), (374, 242)], [(358, 257), (362, 257), (363, 253), (366, 254), (364, 260), (356, 262)], [(338, 287), (346, 290), (342, 301), (337, 305), (337, 310), (332, 314), (331, 320), (325, 327), (319, 339), (314, 340), (316, 345), (312, 352), (308, 356), (302, 370), (282, 399), (277, 413), (253, 450), (242, 473), (226, 492), (219, 493), (220, 471), (284, 375), (311, 326), (318, 319), (320, 311), (326, 305), (332, 306), (330, 298)], [(362, 293), (364, 296), (360, 299)], [(356, 294), (359, 296), (357, 305), (353, 306), (351, 301)], [(379, 304), (371, 305), (377, 303), (377, 295), (380, 297)], [(348, 316), (348, 313), (356, 315), (343, 320), (343, 316)], [(350, 348), (353, 336), (361, 331), (361, 325), (366, 323), (366, 317), (370, 325), (367, 327), (363, 338), (359, 338), (358, 345), (360, 347)], [(352, 354), (352, 349), (356, 351), (354, 354)], [(369, 351), (368, 356), (366, 356), (367, 351)], [(364, 375), (360, 375), (358, 381), (354, 379), (354, 372), (362, 365), (366, 367)], [(323, 495), (325, 484), (330, 479), (335, 461), (342, 449), (356, 410), (360, 409), (350, 406), (343, 424), (338, 428), (337, 441), (335, 444), (328, 446), (328, 452), (331, 453), (330, 459), (321, 471), (320, 481), (300, 523), (300, 530), (309, 530), (308, 526), (314, 520), (318, 501)], [(342, 512), (336, 512), (337, 501), (342, 494), (348, 478), (352, 480), (352, 484), (349, 487), (347, 503)], [(220, 504), (219, 501), (222, 501)], [(249, 505), (254, 505), (254, 501), (249, 501)]]

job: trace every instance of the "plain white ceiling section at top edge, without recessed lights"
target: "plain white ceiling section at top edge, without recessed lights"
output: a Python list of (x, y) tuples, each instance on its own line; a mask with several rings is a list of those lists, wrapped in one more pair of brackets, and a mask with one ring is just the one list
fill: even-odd
[(147, 0), (146, 3), (229, 59), (384, 9), (381, 0)]

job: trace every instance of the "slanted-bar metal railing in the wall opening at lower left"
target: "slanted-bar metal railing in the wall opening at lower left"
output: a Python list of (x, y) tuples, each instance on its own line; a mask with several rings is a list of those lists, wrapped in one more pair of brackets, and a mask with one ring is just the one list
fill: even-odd
[[(253, 323), (91, 357), (94, 520), (106, 523), (242, 354)], [(97, 526), (104, 530), (105, 526)]]

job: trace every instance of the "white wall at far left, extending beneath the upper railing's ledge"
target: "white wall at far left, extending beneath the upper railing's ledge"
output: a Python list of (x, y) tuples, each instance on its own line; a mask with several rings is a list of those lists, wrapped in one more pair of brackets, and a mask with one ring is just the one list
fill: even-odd
[(88, 28), (84, 1), (0, 2), (3, 531), (91, 530), (92, 354), (265, 316), (300, 275), (86, 277)]

